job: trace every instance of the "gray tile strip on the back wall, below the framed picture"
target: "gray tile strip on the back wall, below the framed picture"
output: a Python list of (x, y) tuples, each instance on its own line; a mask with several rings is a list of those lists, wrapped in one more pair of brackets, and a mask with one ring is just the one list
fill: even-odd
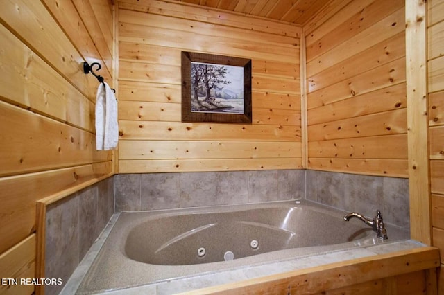
[(116, 211), (302, 199), (304, 170), (116, 175)]

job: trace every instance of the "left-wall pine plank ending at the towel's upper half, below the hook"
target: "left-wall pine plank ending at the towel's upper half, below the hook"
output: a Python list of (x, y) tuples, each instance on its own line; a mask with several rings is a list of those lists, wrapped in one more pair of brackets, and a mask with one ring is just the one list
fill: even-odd
[[(1, 100), (94, 131), (94, 103), (36, 55), (19, 37), (0, 27)], [(20, 85), (20, 87), (17, 87)]]

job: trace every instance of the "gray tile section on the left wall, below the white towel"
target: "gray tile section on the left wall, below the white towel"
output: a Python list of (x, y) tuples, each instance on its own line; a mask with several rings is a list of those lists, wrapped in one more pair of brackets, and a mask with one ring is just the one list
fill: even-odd
[[(104, 179), (46, 209), (45, 277), (66, 283), (114, 213), (113, 177)], [(63, 285), (47, 285), (58, 294)]]

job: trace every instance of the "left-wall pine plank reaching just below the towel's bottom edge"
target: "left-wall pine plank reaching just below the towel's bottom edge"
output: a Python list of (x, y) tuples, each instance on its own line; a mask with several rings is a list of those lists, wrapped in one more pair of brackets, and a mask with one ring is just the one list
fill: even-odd
[(0, 102), (0, 133), (0, 177), (112, 159), (96, 152), (94, 134), (5, 102)]

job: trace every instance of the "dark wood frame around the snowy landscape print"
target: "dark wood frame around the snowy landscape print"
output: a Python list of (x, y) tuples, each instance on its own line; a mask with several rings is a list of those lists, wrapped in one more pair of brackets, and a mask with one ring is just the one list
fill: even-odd
[[(219, 65), (221, 68), (224, 68), (223, 66), (241, 67), (244, 75), (243, 110), (240, 112), (234, 111), (234, 113), (230, 111), (224, 112), (205, 109), (196, 111), (196, 105), (192, 105), (191, 102), (191, 96), (193, 94), (191, 93), (191, 88), (193, 87), (191, 82), (191, 64), (203, 64), (203, 66), (208, 64), (209, 66), (216, 66), (216, 68), (219, 67)], [(210, 93), (210, 90), (207, 91)], [(197, 91), (195, 93), (197, 93)], [(214, 98), (211, 99), (214, 103), (220, 103), (219, 101), (215, 102)], [(230, 108), (227, 107), (227, 105), (224, 106), (226, 109)], [(251, 60), (240, 57), (182, 51), (182, 122), (251, 123)]]

